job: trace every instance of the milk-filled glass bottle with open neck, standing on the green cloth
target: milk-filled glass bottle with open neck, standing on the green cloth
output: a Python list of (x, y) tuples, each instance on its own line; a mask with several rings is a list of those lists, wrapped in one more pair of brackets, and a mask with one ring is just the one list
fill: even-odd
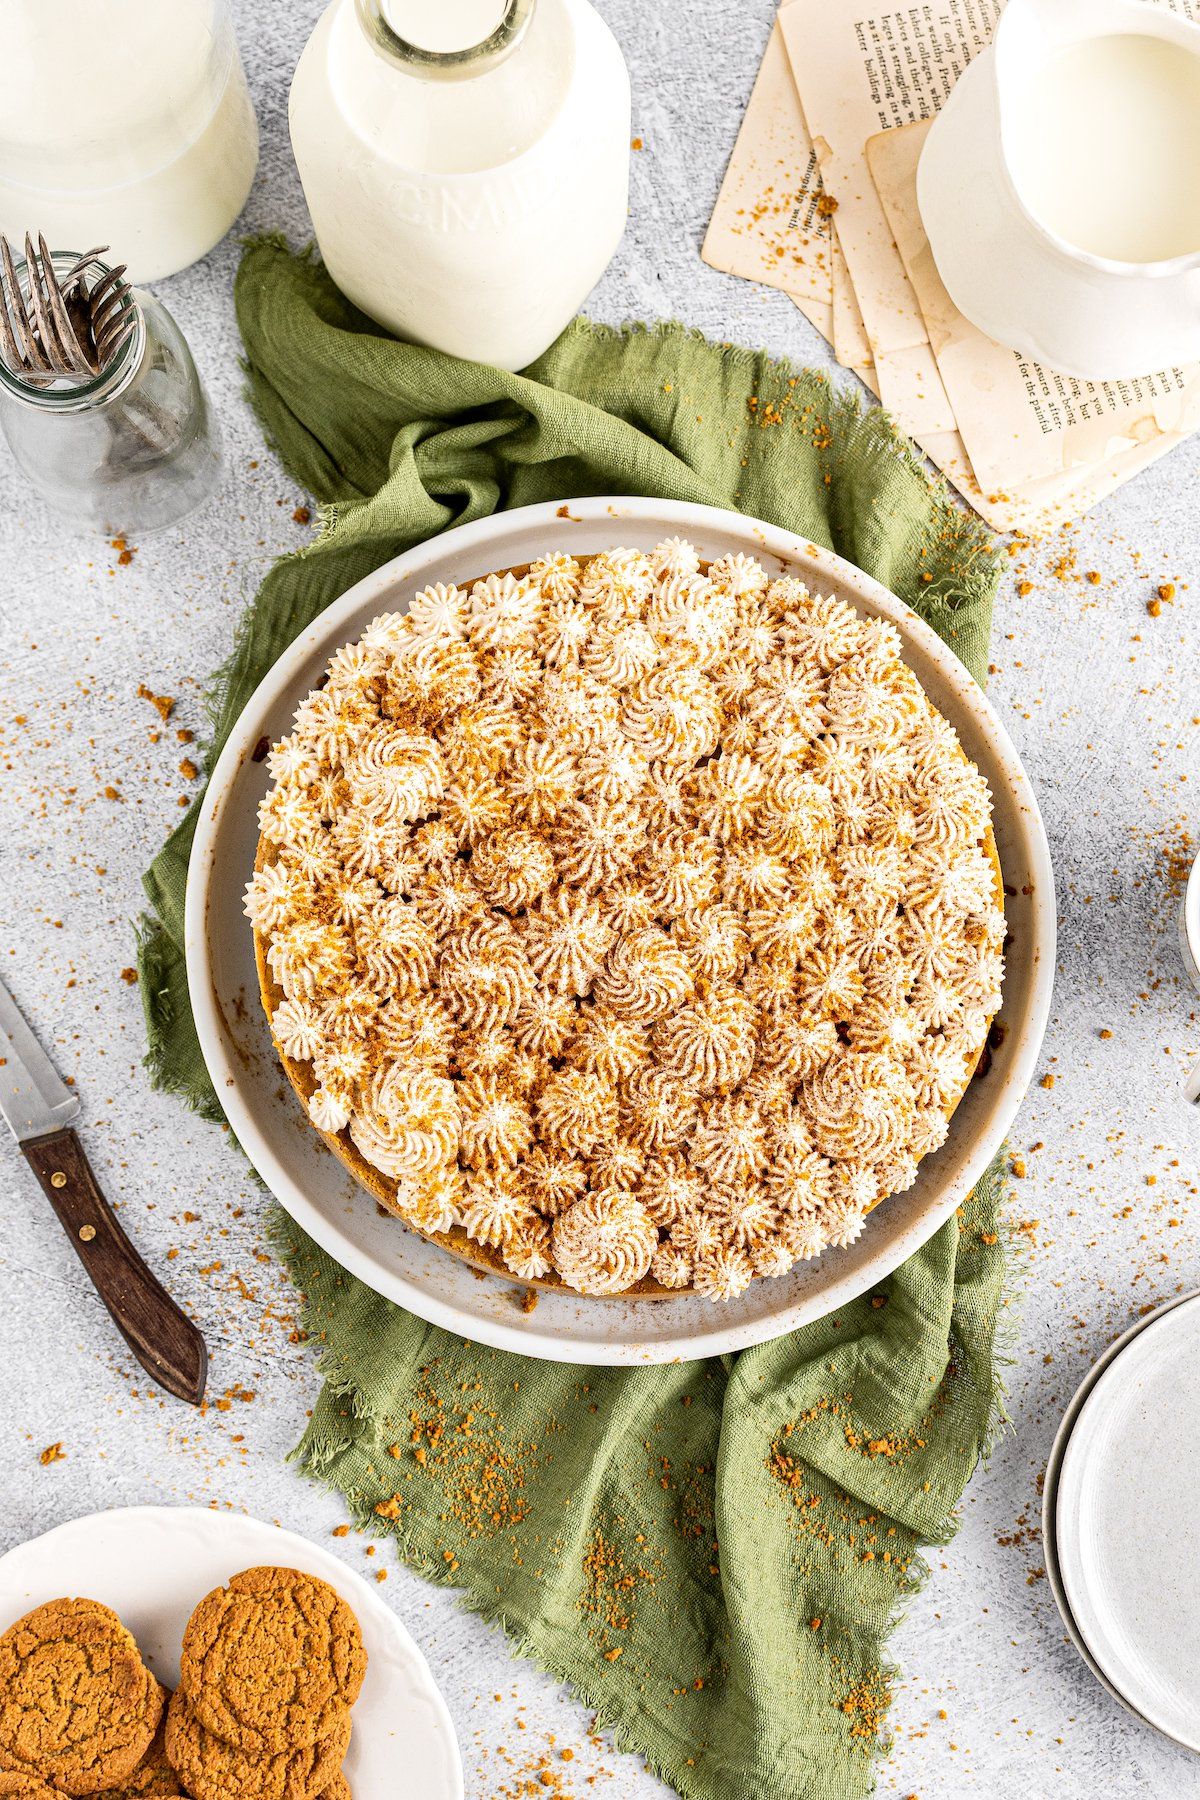
[(333, 279), (455, 356), (524, 369), (624, 230), (630, 77), (588, 0), (333, 0), (290, 122)]

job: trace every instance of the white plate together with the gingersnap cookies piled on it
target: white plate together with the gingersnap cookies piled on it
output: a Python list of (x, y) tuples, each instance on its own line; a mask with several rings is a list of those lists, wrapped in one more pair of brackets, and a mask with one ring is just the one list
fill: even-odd
[(462, 1800), (419, 1649), (327, 1550), (198, 1507), (122, 1507), (0, 1559), (13, 1800)]

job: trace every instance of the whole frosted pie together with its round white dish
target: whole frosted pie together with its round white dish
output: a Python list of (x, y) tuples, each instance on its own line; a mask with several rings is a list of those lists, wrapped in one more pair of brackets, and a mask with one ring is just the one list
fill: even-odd
[(279, 659), (185, 950), (228, 1121), (329, 1255), (497, 1348), (660, 1363), (954, 1213), (1034, 1071), (1054, 889), (909, 607), (738, 513), (590, 499), (398, 556)]

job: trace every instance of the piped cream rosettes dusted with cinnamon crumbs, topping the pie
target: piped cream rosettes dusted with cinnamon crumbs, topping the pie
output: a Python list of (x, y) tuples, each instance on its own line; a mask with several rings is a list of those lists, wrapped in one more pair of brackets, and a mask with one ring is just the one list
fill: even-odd
[(680, 538), (551, 554), (374, 619), (268, 769), (275, 1040), (417, 1229), (732, 1300), (943, 1143), (1004, 916), (891, 626)]

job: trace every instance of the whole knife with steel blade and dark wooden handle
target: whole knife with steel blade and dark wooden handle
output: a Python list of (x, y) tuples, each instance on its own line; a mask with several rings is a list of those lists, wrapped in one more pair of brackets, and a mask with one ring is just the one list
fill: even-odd
[(209, 1373), (205, 1341), (117, 1224), (72, 1130), (79, 1100), (52, 1067), (4, 983), (0, 1116), (133, 1355), (167, 1393), (200, 1406)]

